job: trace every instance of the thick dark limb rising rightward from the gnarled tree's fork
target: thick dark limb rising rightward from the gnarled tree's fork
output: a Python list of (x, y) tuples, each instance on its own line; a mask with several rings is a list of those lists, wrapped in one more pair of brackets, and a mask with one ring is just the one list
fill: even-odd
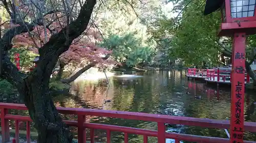
[[(77, 19), (72, 21), (70, 25), (67, 25), (69, 26), (69, 32), (67, 32), (67, 26), (63, 27), (59, 33), (53, 35), (49, 41), (39, 49), (40, 56), (37, 66), (40, 68), (39, 70), (44, 73), (45, 80), (50, 77), (60, 54), (67, 51), (72, 41), (86, 30), (95, 4), (96, 0), (86, 1), (81, 7)], [(66, 38), (66, 35), (68, 35), (69, 39)]]

